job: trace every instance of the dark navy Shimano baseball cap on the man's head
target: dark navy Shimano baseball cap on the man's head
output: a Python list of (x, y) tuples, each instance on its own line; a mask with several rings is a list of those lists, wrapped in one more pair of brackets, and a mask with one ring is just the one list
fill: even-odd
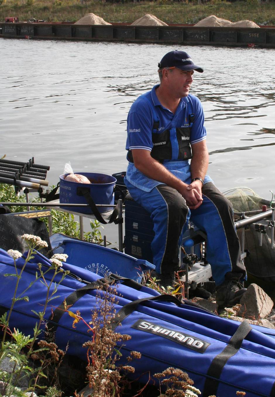
[(181, 70), (196, 70), (200, 73), (204, 71), (202, 67), (194, 65), (194, 62), (187, 52), (179, 50), (167, 52), (158, 64), (159, 68), (172, 66)]

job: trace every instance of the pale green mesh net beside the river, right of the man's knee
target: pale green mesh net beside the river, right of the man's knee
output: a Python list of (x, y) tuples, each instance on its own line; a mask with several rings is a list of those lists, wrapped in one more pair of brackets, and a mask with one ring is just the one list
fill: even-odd
[(270, 201), (258, 196), (248, 187), (235, 187), (223, 192), (223, 195), (231, 202), (234, 212), (249, 212), (262, 210), (266, 205), (270, 208)]

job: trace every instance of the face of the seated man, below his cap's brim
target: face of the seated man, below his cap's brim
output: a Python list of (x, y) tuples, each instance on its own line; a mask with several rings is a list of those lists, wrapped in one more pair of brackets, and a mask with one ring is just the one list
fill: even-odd
[(168, 82), (171, 94), (177, 98), (182, 98), (189, 94), (190, 85), (193, 81), (194, 70), (181, 70), (177, 67), (169, 70)]

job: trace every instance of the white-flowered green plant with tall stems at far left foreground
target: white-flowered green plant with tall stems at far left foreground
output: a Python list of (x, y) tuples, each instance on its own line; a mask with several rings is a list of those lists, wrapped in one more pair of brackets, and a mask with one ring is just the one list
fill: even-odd
[[(42, 360), (41, 365), (37, 368), (31, 368), (29, 366), (29, 358), (33, 355), (38, 355), (41, 353), (42, 350), (49, 349), (49, 347), (43, 346), (42, 349), (36, 349), (35, 343), (38, 340), (38, 335), (40, 334), (40, 327), (42, 322), (44, 322), (44, 315), (46, 312), (46, 308), (48, 303), (52, 301), (56, 297), (58, 285), (63, 281), (65, 276), (69, 273), (68, 271), (63, 271), (62, 269), (62, 261), (65, 261), (67, 255), (65, 254), (54, 254), (51, 258), (52, 265), (49, 266), (48, 269), (44, 270), (41, 264), (38, 263), (37, 265), (37, 273), (36, 277), (29, 286), (27, 286), (23, 291), (19, 293), (18, 287), (20, 279), (23, 275), (23, 271), (27, 265), (27, 262), (33, 258), (33, 254), (35, 250), (39, 250), (43, 247), (47, 247), (47, 243), (42, 241), (40, 237), (24, 234), (21, 238), (25, 241), (27, 245), (27, 255), (25, 258), (25, 262), (23, 266), (20, 268), (17, 266), (17, 260), (22, 256), (21, 252), (16, 250), (8, 250), (8, 254), (14, 260), (14, 274), (4, 274), (7, 278), (15, 278), (15, 287), (13, 292), (13, 297), (11, 299), (11, 306), (9, 313), (5, 313), (0, 318), (0, 327), (3, 330), (3, 337), (1, 341), (1, 348), (0, 348), (0, 363), (4, 360), (4, 358), (8, 358), (10, 362), (13, 363), (12, 372), (9, 373), (7, 371), (1, 371), (1, 379), (4, 382), (4, 391), (2, 394), (6, 396), (18, 395), (21, 396), (22, 393), (20, 389), (18, 389), (17, 382), (19, 381), (22, 376), (32, 376), (33, 377), (33, 384), (29, 386), (27, 391), (34, 391), (35, 387), (37, 387), (37, 382), (39, 378), (45, 377), (43, 369), (45, 366), (48, 366), (47, 360)], [(48, 272), (52, 272), (52, 277), (50, 281), (45, 278), (45, 275)], [(61, 274), (61, 278), (58, 282), (56, 282), (56, 275)], [(37, 312), (32, 310), (33, 313), (37, 316), (38, 322), (33, 330), (33, 336), (28, 335), (25, 336), (19, 330), (14, 329), (13, 331), (10, 330), (9, 322), (10, 317), (13, 312), (13, 308), (18, 301), (25, 301), (29, 302), (29, 297), (26, 295), (29, 288), (33, 286), (36, 282), (42, 283), (46, 287), (46, 295), (44, 306), (42, 306), (42, 310)], [(63, 357), (62, 352), (60, 351), (60, 356)], [(56, 358), (56, 357), (55, 357)]]

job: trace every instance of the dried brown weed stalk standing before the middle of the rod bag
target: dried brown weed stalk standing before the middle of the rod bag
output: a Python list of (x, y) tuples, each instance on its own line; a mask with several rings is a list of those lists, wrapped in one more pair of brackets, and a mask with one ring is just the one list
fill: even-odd
[[(92, 308), (92, 320), (90, 325), (81, 317), (80, 312), (75, 317), (75, 323), (84, 321), (92, 338), (83, 344), (87, 349), (87, 378), (91, 388), (91, 397), (120, 397), (128, 381), (124, 374), (135, 372), (131, 365), (118, 366), (117, 362), (122, 356), (117, 343), (128, 341), (130, 335), (122, 335), (112, 330), (112, 321), (115, 317), (115, 304), (117, 300), (117, 286), (107, 282), (98, 289), (96, 303)], [(70, 314), (72, 316), (72, 314)], [(73, 316), (74, 317), (74, 316)], [(127, 361), (140, 358), (138, 352), (132, 351)], [(80, 397), (75, 393), (76, 397)]]

